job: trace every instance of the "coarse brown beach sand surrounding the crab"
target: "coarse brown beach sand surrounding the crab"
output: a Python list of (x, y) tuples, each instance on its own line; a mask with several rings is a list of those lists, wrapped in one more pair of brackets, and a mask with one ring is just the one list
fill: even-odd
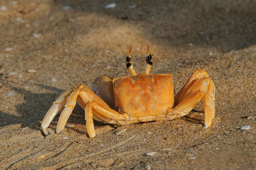
[[(202, 129), (200, 102), (173, 121), (94, 121), (89, 138), (76, 106), (60, 134), (56, 116), (43, 136), (59, 93), (129, 75), (130, 45), (137, 72), (150, 45), (152, 73), (171, 73), (176, 92), (204, 68), (216, 87), (213, 125)], [(256, 169), (255, 66), (255, 0), (0, 0), (0, 169)]]

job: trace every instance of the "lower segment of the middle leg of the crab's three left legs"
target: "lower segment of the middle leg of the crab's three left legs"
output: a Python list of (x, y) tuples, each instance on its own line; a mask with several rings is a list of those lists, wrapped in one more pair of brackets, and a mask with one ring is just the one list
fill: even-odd
[(57, 123), (57, 127), (56, 127), (56, 133), (60, 133), (66, 123), (67, 123), (67, 120), (68, 118), (70, 117), (73, 109), (74, 109), (74, 106), (76, 104), (76, 99), (77, 99), (77, 96), (79, 95), (80, 93), (80, 89), (76, 89), (69, 97), (68, 97), (68, 100), (65, 104), (65, 108), (64, 110), (61, 112), (61, 115), (60, 115), (60, 118), (58, 120), (58, 123)]

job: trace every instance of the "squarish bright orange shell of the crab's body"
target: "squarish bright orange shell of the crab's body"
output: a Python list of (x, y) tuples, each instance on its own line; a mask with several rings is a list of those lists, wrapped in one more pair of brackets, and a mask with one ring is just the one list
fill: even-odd
[(113, 79), (115, 110), (132, 117), (156, 116), (174, 106), (170, 74), (125, 76)]

